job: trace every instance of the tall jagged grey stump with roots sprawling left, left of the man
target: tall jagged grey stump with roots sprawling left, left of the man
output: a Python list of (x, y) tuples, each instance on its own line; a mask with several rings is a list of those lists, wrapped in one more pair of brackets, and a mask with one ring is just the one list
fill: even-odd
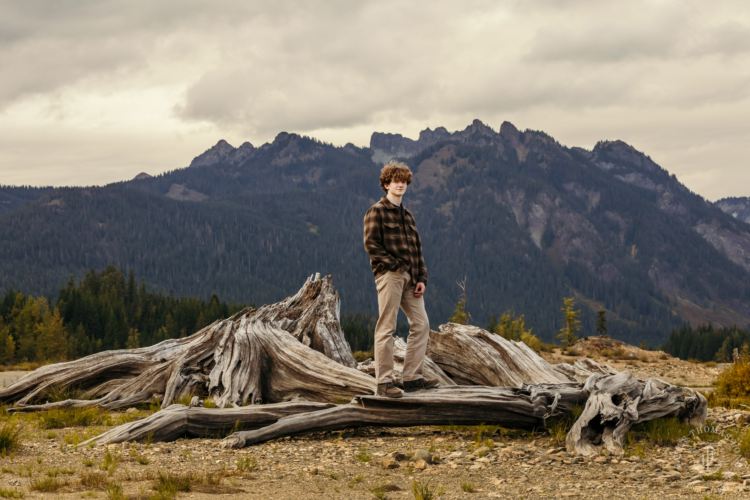
[(184, 339), (40, 367), (1, 390), (0, 401), (18, 403), (14, 409), (23, 411), (49, 409), (28, 403), (43, 398), (52, 385), (77, 388), (98, 398), (52, 407), (104, 409), (154, 398), (169, 405), (205, 391), (218, 406), (240, 405), (248, 398), (251, 403), (294, 398), (333, 401), (373, 394), (374, 381), (356, 370), (338, 314), (339, 297), (331, 277), (316, 276), (293, 297), (247, 308)]

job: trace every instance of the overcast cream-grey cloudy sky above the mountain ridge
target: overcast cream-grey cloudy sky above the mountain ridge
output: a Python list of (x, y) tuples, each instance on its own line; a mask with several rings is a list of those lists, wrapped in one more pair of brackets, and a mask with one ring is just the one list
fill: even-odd
[(750, 196), (750, 2), (0, 0), (0, 184), (105, 184), (280, 131), (622, 139)]

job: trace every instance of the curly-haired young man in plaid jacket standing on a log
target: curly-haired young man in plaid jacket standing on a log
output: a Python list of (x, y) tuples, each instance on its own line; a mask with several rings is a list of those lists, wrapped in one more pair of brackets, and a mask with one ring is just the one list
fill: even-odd
[(391, 161), (380, 171), (380, 187), (386, 196), (365, 214), (365, 250), (375, 274), (380, 318), (375, 325), (375, 379), (377, 394), (401, 397), (393, 385), (393, 334), (398, 308), (409, 319), (407, 355), (404, 359), (404, 390), (420, 391), (437, 385), (437, 379), (425, 380), (425, 361), (430, 322), (422, 295), (427, 286), (427, 268), (422, 257), (422, 241), (411, 212), (401, 197), (411, 184), (412, 172), (404, 163)]

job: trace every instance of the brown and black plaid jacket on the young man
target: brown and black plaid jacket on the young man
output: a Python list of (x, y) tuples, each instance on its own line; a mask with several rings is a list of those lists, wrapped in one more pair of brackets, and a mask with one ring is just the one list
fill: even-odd
[(370, 254), (370, 265), (376, 278), (388, 271), (409, 271), (414, 283), (427, 284), (422, 240), (414, 216), (404, 207), (402, 225), (398, 207), (386, 196), (365, 214), (365, 250)]

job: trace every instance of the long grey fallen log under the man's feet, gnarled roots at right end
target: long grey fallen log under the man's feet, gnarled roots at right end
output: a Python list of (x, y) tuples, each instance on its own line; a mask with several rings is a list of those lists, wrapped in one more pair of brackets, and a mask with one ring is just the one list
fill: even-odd
[[(625, 436), (634, 424), (665, 415), (702, 425), (707, 404), (700, 394), (649, 379), (645, 385), (631, 375), (589, 376), (586, 382), (523, 384), (518, 388), (453, 386), (393, 399), (356, 397), (352, 403), (305, 415), (282, 418), (269, 427), (233, 433), (223, 448), (324, 430), (360, 426), (410, 427), (492, 423), (508, 428), (542, 427), (546, 420), (586, 402), (566, 438), (568, 451), (589, 455), (606, 448), (622, 455)], [(619, 403), (619, 406), (618, 406)]]

